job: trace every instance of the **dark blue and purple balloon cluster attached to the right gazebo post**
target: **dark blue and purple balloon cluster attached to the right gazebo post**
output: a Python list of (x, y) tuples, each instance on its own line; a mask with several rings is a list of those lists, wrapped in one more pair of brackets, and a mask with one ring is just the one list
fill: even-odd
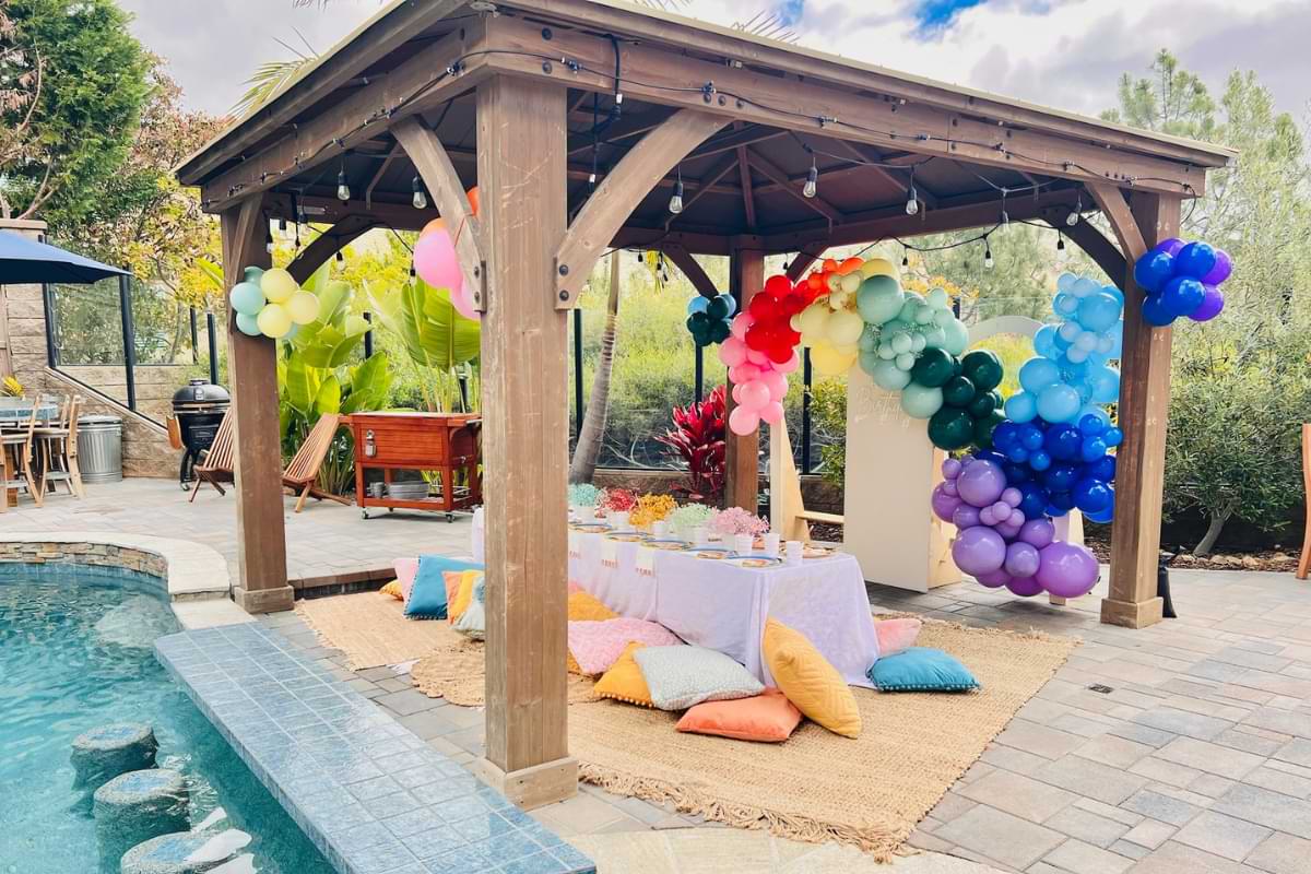
[(1230, 278), (1228, 253), (1205, 242), (1169, 238), (1156, 244), (1134, 263), (1134, 282), (1147, 295), (1143, 318), (1165, 328), (1181, 316), (1210, 321), (1224, 309), (1219, 286)]

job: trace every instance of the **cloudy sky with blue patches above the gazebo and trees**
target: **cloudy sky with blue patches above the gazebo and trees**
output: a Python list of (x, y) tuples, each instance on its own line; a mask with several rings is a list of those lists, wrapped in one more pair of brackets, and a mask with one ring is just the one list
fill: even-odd
[[(287, 47), (324, 51), (378, 0), (119, 0), (132, 29), (169, 59), (193, 109), (225, 113), (262, 62)], [(1303, 124), (1311, 104), (1307, 0), (663, 0), (733, 24), (776, 12), (810, 48), (1058, 109), (1114, 105), (1121, 72), (1147, 75), (1169, 48), (1214, 93), (1255, 69), (1276, 105)], [(309, 48), (307, 48), (307, 45)]]

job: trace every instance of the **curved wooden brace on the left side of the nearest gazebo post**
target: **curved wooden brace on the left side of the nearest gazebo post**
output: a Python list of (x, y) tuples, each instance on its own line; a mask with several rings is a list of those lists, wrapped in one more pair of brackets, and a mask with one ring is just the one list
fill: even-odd
[(430, 131), (420, 118), (405, 118), (392, 127), (396, 142), (401, 144), (414, 169), (423, 178), (427, 193), (437, 203), (438, 212), (446, 219), (446, 229), (455, 241), (455, 254), (460, 261), (464, 284), (473, 292), (473, 305), (486, 309), (482, 299), (482, 229), (479, 218), (473, 215), (460, 176), (451, 164), (451, 157), (442, 148), (437, 134)]

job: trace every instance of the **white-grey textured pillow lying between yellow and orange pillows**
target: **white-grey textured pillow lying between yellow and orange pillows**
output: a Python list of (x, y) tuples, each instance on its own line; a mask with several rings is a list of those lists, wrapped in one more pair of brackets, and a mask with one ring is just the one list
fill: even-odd
[(686, 710), (701, 701), (750, 698), (764, 684), (722, 653), (700, 646), (646, 646), (633, 654), (652, 702), (661, 710)]

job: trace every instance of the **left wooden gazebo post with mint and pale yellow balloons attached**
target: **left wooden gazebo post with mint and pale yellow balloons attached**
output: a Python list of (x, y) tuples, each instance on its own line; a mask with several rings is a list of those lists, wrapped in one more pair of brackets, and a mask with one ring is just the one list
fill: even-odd
[[(271, 263), (269, 225), (260, 195), (223, 212), (223, 278), (241, 282), (246, 267)], [(287, 539), (282, 516), (282, 440), (278, 428), (277, 343), (237, 330), (228, 311), (228, 379), (236, 411), (236, 499), (240, 578), (232, 599), (248, 613), (291, 609)]]

